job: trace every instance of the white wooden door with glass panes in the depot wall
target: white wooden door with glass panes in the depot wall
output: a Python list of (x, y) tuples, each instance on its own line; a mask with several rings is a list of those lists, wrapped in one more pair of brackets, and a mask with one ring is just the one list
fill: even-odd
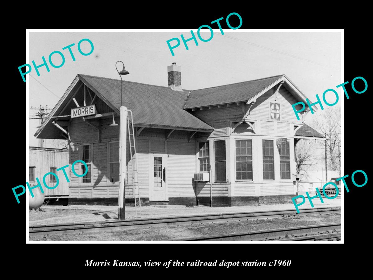
[(149, 200), (167, 200), (167, 156), (150, 154)]

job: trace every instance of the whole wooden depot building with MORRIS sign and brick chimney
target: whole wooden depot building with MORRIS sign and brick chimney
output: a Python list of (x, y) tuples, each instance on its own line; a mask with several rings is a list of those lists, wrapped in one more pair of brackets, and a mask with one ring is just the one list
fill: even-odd
[[(216, 206), (291, 202), (295, 144), (323, 139), (304, 124), (306, 110), (298, 121), (292, 109), (306, 96), (285, 75), (189, 91), (182, 89), (180, 66), (167, 71), (168, 87), (122, 82), (122, 105), (133, 112), (142, 202), (206, 205), (210, 192)], [(118, 203), (120, 126), (110, 124), (119, 124), (120, 92), (120, 80), (78, 74), (49, 114), (54, 118), (35, 133), (68, 139), (70, 166), (87, 162), (84, 177), (70, 175), (70, 203)], [(86, 105), (95, 105), (92, 115), (71, 116)], [(130, 202), (128, 139), (126, 161)], [(84, 165), (75, 171), (83, 174)]]

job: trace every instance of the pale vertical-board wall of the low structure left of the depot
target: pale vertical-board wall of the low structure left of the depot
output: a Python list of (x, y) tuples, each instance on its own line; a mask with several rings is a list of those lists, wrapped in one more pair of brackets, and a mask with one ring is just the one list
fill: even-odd
[[(69, 195), (69, 183), (66, 181), (63, 171), (57, 171), (59, 184), (55, 189), (47, 189), (43, 184), (43, 177), (46, 173), (50, 172), (51, 167), (61, 168), (69, 164), (69, 151), (59, 149), (48, 149), (39, 147), (29, 147), (29, 166), (35, 167), (34, 176), (39, 178), (42, 184), (44, 195), (47, 196), (68, 196)], [(69, 176), (69, 173), (66, 172)], [(56, 183), (50, 182), (50, 175), (46, 177), (46, 183), (48, 187), (56, 186)], [(31, 182), (29, 182), (31, 183)], [(36, 184), (36, 179), (35, 179)]]

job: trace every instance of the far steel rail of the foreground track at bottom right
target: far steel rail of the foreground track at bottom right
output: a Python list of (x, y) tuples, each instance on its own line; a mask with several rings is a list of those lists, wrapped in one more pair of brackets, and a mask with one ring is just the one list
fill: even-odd
[[(257, 230), (245, 233), (230, 233), (214, 236), (198, 236), (167, 241), (277, 241), (275, 239), (284, 235), (324, 233), (327, 230), (340, 231), (341, 223), (307, 225), (302, 227), (276, 228), (273, 230)], [(314, 238), (314, 237), (313, 237)], [(289, 241), (284, 239), (283, 241)]]

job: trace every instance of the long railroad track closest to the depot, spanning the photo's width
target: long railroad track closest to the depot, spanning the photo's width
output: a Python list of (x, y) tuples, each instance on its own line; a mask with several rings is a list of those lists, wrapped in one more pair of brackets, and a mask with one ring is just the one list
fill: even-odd
[(190, 225), (203, 223), (221, 223), (226, 221), (250, 221), (267, 218), (287, 218), (308, 215), (340, 214), (341, 207), (302, 209), (299, 214), (295, 210), (276, 210), (260, 212), (240, 212), (224, 214), (208, 214), (178, 216), (165, 218), (148, 218), (136, 220), (116, 220), (74, 224), (34, 225), (29, 227), (29, 236), (49, 236), (58, 234), (87, 233), (93, 231), (128, 230), (134, 228), (162, 227), (169, 225)]

